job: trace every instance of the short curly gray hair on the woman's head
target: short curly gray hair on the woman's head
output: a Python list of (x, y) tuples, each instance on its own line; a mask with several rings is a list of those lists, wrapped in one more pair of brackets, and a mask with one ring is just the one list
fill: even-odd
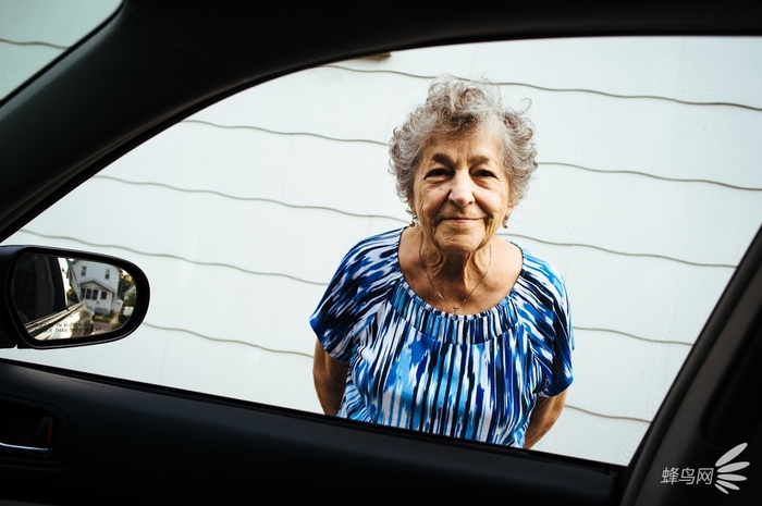
[(523, 116), (524, 112), (526, 109), (517, 112), (503, 108), (500, 89), (488, 81), (468, 82), (453, 76), (435, 79), (426, 102), (394, 129), (390, 141), (389, 171), (396, 176), (400, 198), (407, 202), (413, 197), (414, 174), (429, 139), (492, 127), (501, 139), (511, 203), (517, 205), (537, 169), (533, 125)]

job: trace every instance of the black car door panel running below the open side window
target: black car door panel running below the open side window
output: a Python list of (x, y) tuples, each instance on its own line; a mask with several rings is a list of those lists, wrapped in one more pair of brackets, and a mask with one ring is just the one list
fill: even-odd
[(455, 490), (601, 505), (622, 470), (10, 361), (0, 362), (0, 397), (56, 414), (49, 461), (0, 460), (2, 493), (27, 501), (139, 498), (155, 488), (179, 501), (308, 488), (316, 498), (391, 498), (411, 488), (427, 497)]

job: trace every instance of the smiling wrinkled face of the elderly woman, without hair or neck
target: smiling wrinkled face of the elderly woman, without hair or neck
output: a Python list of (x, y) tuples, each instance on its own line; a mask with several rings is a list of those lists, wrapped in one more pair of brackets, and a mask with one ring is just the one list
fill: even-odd
[(410, 205), (434, 246), (467, 255), (487, 245), (513, 211), (508, 189), (497, 136), (479, 128), (423, 146)]

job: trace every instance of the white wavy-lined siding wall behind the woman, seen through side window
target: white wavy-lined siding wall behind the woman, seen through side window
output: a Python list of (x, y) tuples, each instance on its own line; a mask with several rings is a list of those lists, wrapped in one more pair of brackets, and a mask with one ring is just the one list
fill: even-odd
[[(404, 225), (394, 126), (442, 73), (532, 102), (540, 168), (506, 238), (564, 274), (576, 380), (539, 449), (626, 464), (762, 218), (762, 44), (519, 41), (327, 65), (128, 153), (7, 244), (142, 266), (128, 338), (2, 356), (317, 411), (307, 319), (346, 250)], [(86, 230), (67, 218), (113, 209)], [(121, 213), (121, 215), (120, 215)], [(83, 215), (93, 217), (94, 213)]]

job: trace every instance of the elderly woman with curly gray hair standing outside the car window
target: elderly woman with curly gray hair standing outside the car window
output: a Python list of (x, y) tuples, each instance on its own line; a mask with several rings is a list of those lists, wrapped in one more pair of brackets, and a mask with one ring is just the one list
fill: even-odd
[(566, 289), (496, 236), (537, 168), (531, 136), (494, 86), (452, 77), (395, 129), (413, 222), (355, 246), (311, 317), (325, 414), (516, 447), (556, 421), (572, 383)]

